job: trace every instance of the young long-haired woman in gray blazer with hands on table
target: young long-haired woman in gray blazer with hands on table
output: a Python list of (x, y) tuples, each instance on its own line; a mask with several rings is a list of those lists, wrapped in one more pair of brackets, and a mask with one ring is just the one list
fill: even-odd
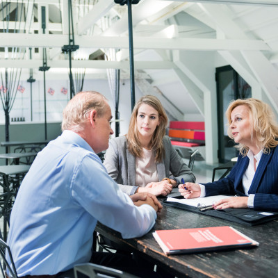
[(133, 108), (128, 133), (110, 140), (104, 166), (125, 193), (167, 195), (182, 178), (195, 182), (193, 172), (165, 136), (166, 126), (161, 102), (145, 95)]

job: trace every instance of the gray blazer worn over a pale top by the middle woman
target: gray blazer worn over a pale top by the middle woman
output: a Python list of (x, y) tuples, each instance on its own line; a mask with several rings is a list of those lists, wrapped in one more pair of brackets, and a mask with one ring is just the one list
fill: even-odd
[[(161, 163), (157, 163), (159, 181), (165, 177), (169, 177), (170, 179), (175, 179), (178, 184), (181, 183), (181, 178), (184, 181), (195, 182), (196, 178), (193, 172), (191, 172), (174, 147), (172, 147), (168, 136), (164, 136), (163, 145), (165, 157)], [(138, 188), (136, 186), (135, 160), (135, 156), (126, 148), (126, 136), (110, 140), (105, 154), (104, 166), (112, 179), (128, 195), (134, 194)]]

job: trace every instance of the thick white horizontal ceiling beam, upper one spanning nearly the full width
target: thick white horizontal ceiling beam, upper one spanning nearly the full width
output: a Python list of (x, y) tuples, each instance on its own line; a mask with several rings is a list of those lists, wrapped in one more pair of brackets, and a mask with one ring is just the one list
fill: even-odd
[[(129, 38), (75, 36), (83, 48), (129, 48)], [(62, 47), (67, 35), (0, 33), (0, 47)], [(271, 50), (262, 40), (218, 40), (203, 38), (133, 38), (134, 49)], [(273, 50), (273, 49), (272, 49)]]

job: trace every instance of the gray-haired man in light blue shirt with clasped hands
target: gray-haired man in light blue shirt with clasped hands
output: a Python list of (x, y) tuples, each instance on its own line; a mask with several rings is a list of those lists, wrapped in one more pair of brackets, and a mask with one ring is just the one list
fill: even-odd
[(156, 197), (122, 193), (97, 156), (108, 148), (111, 118), (103, 95), (79, 92), (63, 111), (62, 135), (35, 158), (10, 216), (19, 277), (69, 277), (74, 265), (89, 261), (117, 267), (116, 254), (92, 254), (97, 221), (123, 238), (152, 229), (162, 208)]

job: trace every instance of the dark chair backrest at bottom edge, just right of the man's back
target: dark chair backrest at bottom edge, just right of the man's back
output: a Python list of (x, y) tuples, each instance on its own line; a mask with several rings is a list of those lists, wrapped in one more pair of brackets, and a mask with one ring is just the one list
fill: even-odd
[(80, 265), (74, 265), (74, 277), (84, 277), (83, 275), (86, 275), (89, 278), (137, 278), (136, 276), (123, 272), (121, 270), (107, 268), (106, 266), (96, 265), (95, 263), (83, 263)]

